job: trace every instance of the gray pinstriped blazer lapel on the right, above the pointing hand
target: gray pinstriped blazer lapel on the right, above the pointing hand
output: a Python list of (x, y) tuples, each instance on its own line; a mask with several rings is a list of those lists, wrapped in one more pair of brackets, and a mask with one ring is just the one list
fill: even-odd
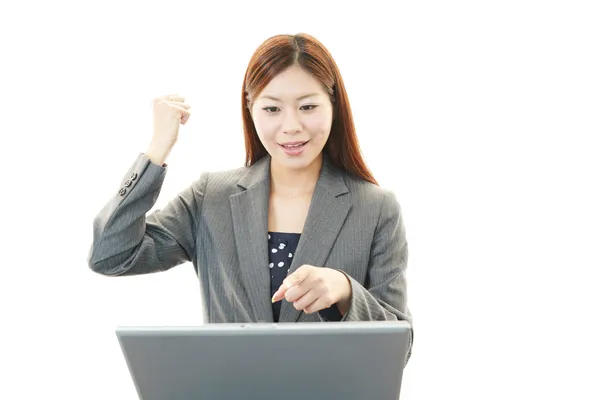
[[(350, 211), (347, 193), (348, 188), (341, 171), (334, 168), (324, 156), (302, 236), (290, 266), (290, 274), (304, 264), (326, 267), (325, 261)], [(266, 276), (268, 279), (268, 273)], [(279, 321), (296, 322), (301, 313), (284, 299)]]

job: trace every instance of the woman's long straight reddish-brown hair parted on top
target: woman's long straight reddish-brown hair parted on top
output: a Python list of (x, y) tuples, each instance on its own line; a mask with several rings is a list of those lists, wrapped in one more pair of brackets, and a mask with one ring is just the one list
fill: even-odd
[(325, 152), (333, 165), (377, 185), (362, 157), (342, 75), (325, 46), (306, 33), (276, 35), (267, 39), (248, 63), (242, 88), (246, 166), (267, 155), (252, 120), (252, 102), (275, 76), (295, 64), (311, 73), (329, 93), (333, 122)]

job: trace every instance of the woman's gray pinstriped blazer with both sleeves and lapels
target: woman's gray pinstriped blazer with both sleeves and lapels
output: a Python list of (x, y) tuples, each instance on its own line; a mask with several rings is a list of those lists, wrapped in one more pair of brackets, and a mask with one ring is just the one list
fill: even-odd
[[(267, 248), (270, 157), (203, 173), (162, 210), (167, 167), (140, 154), (94, 219), (88, 263), (102, 275), (164, 271), (191, 261), (206, 322), (272, 322)], [(342, 321), (406, 320), (407, 242), (395, 195), (324, 157), (290, 273), (303, 264), (344, 272), (352, 286)], [(283, 301), (280, 322), (325, 321)], [(411, 340), (412, 344), (412, 340)]]

